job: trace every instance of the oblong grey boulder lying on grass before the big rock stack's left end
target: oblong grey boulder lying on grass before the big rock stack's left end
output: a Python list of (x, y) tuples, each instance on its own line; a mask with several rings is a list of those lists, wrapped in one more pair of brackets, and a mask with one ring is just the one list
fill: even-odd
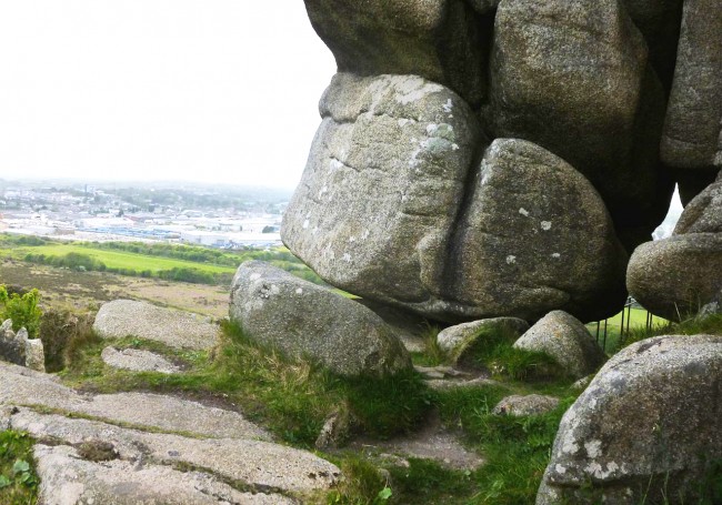
[(382, 376), (411, 367), (399, 337), (373, 312), (259, 261), (238, 269), (230, 316), (257, 342), (342, 375)]

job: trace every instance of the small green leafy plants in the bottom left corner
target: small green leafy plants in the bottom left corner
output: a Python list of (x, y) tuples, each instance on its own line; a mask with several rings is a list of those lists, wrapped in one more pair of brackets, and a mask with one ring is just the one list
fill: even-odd
[(26, 433), (0, 432), (0, 505), (36, 503), (39, 479), (32, 458), (33, 443)]

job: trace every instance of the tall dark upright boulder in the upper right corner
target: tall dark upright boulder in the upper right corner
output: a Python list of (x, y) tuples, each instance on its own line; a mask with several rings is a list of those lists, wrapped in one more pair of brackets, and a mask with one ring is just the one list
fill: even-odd
[(661, 144), (662, 160), (671, 166), (710, 170), (722, 158), (721, 32), (718, 0), (685, 0)]

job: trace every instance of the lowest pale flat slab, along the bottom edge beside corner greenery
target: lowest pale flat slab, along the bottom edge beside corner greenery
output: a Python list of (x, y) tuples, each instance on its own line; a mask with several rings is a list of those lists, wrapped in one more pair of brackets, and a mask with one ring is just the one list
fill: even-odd
[(202, 472), (168, 466), (82, 459), (67, 445), (37, 445), (40, 503), (44, 505), (274, 505), (295, 504), (278, 494), (242, 493)]

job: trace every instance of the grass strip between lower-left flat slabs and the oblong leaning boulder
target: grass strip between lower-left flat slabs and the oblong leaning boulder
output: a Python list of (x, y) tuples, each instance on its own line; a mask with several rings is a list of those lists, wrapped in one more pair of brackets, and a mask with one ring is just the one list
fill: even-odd
[[(86, 337), (69, 356), (61, 376), (76, 387), (93, 392), (150, 390), (221, 398), (239, 405), (247, 416), (285, 442), (303, 447), (313, 445), (324, 421), (339, 410), (348, 411), (357, 432), (377, 437), (412, 430), (428, 410), (428, 392), (413, 372), (384, 380), (340, 377), (260, 347), (234, 325), (228, 324), (224, 330), (223, 344), (212, 357), (133, 337)], [(164, 375), (108, 367), (100, 353), (111, 344), (161, 352), (185, 365), (187, 371)]]

